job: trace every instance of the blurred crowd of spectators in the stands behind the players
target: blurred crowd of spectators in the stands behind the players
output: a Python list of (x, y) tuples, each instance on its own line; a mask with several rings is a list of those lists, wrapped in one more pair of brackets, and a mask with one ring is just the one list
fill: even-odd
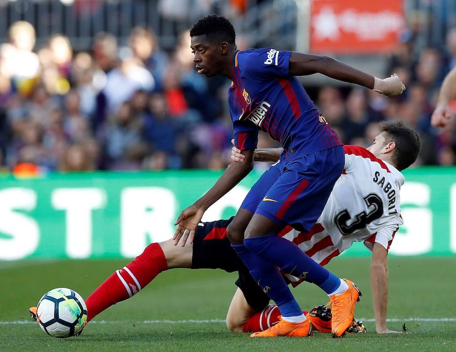
[[(456, 28), (446, 48), (415, 51), (404, 31), (385, 60), (407, 86), (397, 98), (353, 87), (307, 87), (346, 144), (369, 146), (381, 120), (403, 120), (423, 139), (417, 165), (456, 164), (455, 119), (434, 129), (430, 116), (445, 74), (456, 66)], [(188, 31), (163, 51), (151, 30), (132, 29), (128, 46), (99, 33), (75, 52), (55, 34), (35, 47), (25, 21), (0, 46), (0, 171), (223, 169), (231, 119), (224, 77), (197, 74)], [(255, 46), (239, 37), (239, 49)], [(456, 108), (455, 108), (456, 110)], [(260, 132), (258, 147), (277, 142)]]

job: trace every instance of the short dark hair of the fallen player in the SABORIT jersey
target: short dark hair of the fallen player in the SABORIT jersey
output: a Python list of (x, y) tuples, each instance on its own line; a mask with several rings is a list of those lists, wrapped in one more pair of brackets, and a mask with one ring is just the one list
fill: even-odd
[(420, 136), (411, 128), (405, 127), (402, 121), (380, 123), (380, 129), (385, 132), (392, 141), (396, 143), (396, 152), (393, 160), (399, 171), (412, 165), (421, 149)]

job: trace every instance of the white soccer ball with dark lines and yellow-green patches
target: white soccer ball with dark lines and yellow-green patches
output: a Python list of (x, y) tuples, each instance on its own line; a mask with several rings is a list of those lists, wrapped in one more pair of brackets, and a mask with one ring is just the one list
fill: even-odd
[(57, 288), (41, 297), (36, 306), (38, 323), (52, 337), (77, 335), (87, 320), (87, 306), (75, 291)]

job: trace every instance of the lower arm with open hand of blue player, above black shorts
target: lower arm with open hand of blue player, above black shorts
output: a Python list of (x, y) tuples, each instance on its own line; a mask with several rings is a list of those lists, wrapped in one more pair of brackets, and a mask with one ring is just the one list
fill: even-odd
[(182, 210), (174, 225), (177, 225), (173, 240), (176, 246), (182, 238), (182, 247), (185, 246), (188, 237), (193, 244), (195, 231), (204, 212), (228, 191), (236, 186), (253, 169), (253, 150), (243, 150), (245, 155), (243, 163), (231, 163), (215, 184), (198, 201)]

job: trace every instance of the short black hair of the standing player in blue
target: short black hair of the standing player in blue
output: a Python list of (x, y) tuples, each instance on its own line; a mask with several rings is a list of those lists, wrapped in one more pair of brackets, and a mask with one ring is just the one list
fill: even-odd
[(235, 44), (236, 31), (229, 20), (223, 16), (208, 15), (198, 20), (190, 30), (190, 36), (204, 35), (209, 41), (218, 40)]

